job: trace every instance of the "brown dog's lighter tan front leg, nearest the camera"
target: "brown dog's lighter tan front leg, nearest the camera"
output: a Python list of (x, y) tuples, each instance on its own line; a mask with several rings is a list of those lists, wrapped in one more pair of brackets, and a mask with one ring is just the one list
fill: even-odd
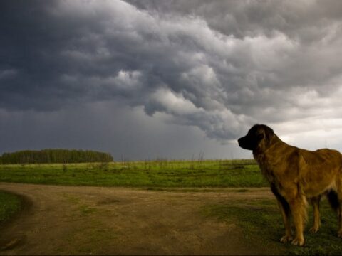
[(296, 237), (291, 242), (292, 245), (304, 245), (304, 222), (306, 220), (306, 200), (304, 196), (296, 196), (289, 201), (292, 220), (296, 228)]

